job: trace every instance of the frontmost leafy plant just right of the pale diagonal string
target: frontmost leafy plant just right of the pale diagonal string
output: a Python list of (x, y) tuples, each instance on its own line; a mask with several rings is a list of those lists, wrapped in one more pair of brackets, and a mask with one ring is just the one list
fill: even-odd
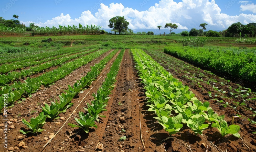
[(95, 127), (97, 128), (98, 126), (95, 124), (95, 117), (94, 116), (89, 116), (89, 113), (87, 113), (86, 115), (84, 115), (83, 112), (79, 112), (79, 118), (75, 118), (75, 120), (77, 121), (77, 123), (79, 125), (75, 125), (75, 124), (71, 124), (68, 123), (68, 125), (70, 125), (72, 128), (73, 127), (79, 127), (82, 128), (84, 132), (86, 132), (87, 134), (89, 133), (89, 128)]

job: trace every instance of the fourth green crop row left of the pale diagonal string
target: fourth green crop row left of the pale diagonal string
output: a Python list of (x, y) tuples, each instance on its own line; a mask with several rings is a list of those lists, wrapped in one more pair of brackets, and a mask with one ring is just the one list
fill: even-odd
[[(10, 72), (12, 70), (21, 69), (21, 68), (28, 67), (28, 66), (33, 66), (33, 65), (38, 65), (38, 64), (41, 64), (41, 63), (44, 63), (44, 62), (59, 59), (61, 57), (65, 57), (65, 56), (69, 56), (71, 54), (84, 52), (84, 51), (87, 51), (87, 50), (78, 50), (78, 51), (72, 51), (72, 52), (70, 52), (70, 51), (66, 52), (65, 51), (65, 53), (63, 52), (60, 55), (53, 54), (52, 56), (50, 56), (50, 57), (47, 56), (42, 60), (32, 61), (32, 60), (26, 59), (25, 61), (17, 61), (17, 62), (12, 62), (12, 63), (9, 63), (9, 64), (3, 64), (2, 66), (0, 66), (0, 73), (4, 74), (4, 73)], [(56, 53), (58, 53), (58, 52), (56, 52)]]

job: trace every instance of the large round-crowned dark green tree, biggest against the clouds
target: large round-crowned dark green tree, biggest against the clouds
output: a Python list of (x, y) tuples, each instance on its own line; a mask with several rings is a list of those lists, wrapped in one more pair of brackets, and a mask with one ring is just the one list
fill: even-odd
[(124, 19), (124, 16), (116, 16), (109, 20), (108, 27), (118, 30), (120, 34), (121, 31), (127, 31), (128, 25), (130, 25), (130, 23)]

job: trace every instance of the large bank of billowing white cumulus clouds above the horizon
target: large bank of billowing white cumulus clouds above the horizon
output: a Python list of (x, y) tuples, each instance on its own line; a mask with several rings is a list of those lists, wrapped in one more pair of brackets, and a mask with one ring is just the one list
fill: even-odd
[[(244, 3), (240, 8), (256, 12), (256, 5), (246, 4), (248, 1), (240, 1)], [(248, 6), (247, 6), (248, 5)], [(109, 28), (109, 19), (114, 16), (124, 16), (130, 25), (130, 29), (156, 29), (158, 25), (164, 26), (166, 23), (178, 25), (178, 29), (199, 28), (201, 23), (207, 23), (208, 29), (220, 30), (225, 29), (232, 23), (241, 22), (247, 24), (256, 22), (256, 16), (252, 14), (239, 14), (238, 16), (230, 16), (221, 13), (221, 9), (214, 0), (183, 0), (183, 2), (174, 2), (173, 0), (161, 0), (154, 6), (145, 11), (138, 11), (123, 6), (121, 3), (111, 3), (105, 5), (100, 4), (100, 8), (96, 13), (90, 10), (82, 12), (79, 18), (72, 19), (69, 14), (61, 14), (44, 23), (38, 22), (35, 25), (39, 27), (52, 27), (58, 25), (82, 25), (95, 24), (103, 28)], [(31, 22), (21, 23), (28, 25)]]

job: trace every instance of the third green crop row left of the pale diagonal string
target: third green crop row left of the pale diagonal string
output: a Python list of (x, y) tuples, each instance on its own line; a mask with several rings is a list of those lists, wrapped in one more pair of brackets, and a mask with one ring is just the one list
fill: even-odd
[(10, 82), (12, 82), (16, 79), (19, 79), (21, 77), (25, 77), (25, 76), (28, 76), (28, 75), (31, 75), (31, 74), (36, 74), (38, 72), (44, 71), (44, 70), (46, 70), (46, 69), (48, 69), (52, 66), (62, 65), (62, 64), (64, 64), (65, 62), (67, 62), (69, 60), (81, 57), (81, 56), (83, 56), (85, 54), (88, 54), (88, 53), (91, 53), (95, 50), (97, 50), (97, 49), (93, 49), (93, 50), (90, 50), (90, 51), (74, 54), (74, 55), (71, 55), (71, 56), (65, 56), (65, 57), (62, 57), (62, 58), (57, 59), (57, 60), (52, 60), (50, 62), (40, 64), (38, 66), (30, 67), (29, 69), (26, 69), (26, 70), (21, 70), (20, 72), (13, 71), (13, 72), (9, 72), (7, 75), (5, 75), (5, 74), (0, 75), (0, 86), (4, 86), (5, 84), (8, 84), (8, 83), (10, 83)]

